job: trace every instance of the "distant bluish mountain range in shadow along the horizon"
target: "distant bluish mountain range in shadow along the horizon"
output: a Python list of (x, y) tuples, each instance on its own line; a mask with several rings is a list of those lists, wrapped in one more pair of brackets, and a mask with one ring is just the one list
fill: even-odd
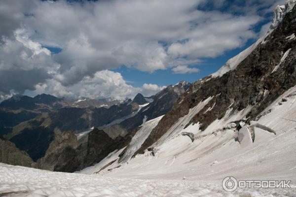
[(80, 133), (82, 139), (91, 128), (105, 128), (112, 138), (124, 136), (146, 120), (167, 113), (188, 87), (189, 83), (182, 81), (155, 96), (145, 98), (138, 94), (133, 100), (122, 101), (71, 101), (45, 94), (34, 98), (15, 96), (0, 103), (1, 133), (36, 162), (44, 156), (50, 142), (65, 131)]

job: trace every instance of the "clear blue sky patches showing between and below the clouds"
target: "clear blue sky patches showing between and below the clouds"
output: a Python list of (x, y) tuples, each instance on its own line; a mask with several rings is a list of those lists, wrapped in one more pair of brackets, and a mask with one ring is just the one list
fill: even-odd
[[(68, 0), (70, 2), (80, 2), (83, 3), (83, 0)], [(93, 1), (97, 1), (97, 0), (93, 0)], [(219, 10), (221, 12), (224, 13), (233, 13), (234, 15), (243, 15), (244, 13), (241, 12), (240, 10), (229, 10), (229, 5), (230, 4), (236, 4), (237, 6), (246, 6), (246, 1), (244, 0), (225, 0), (222, 3), (221, 7), (215, 7), (215, 2), (213, 1), (208, 1), (207, 3), (204, 3), (201, 6), (198, 6), (197, 9), (200, 10), (205, 10), (205, 11), (213, 11), (213, 10)], [(250, 5), (258, 5), (260, 2), (250, 2)], [(266, 6), (262, 6), (261, 8), (259, 8), (259, 12), (258, 14), (260, 16), (262, 16), (262, 20), (257, 23), (256, 25), (254, 25), (253, 30), (256, 33), (259, 33), (262, 26), (269, 23), (272, 19), (272, 12), (270, 12), (270, 9), (268, 12), (266, 13), (261, 13), (262, 9), (266, 9), (266, 8), (270, 8), (269, 7), (270, 4), (266, 4)], [(157, 84), (159, 86), (167, 86), (170, 84), (176, 84), (179, 81), (182, 80), (186, 80), (190, 83), (201, 79), (205, 76), (208, 76), (212, 73), (214, 73), (215, 71), (217, 71), (227, 60), (229, 60), (230, 58), (234, 57), (235, 55), (237, 55), (238, 53), (240, 53), (241, 51), (245, 50), (246, 48), (248, 48), (249, 46), (251, 46), (254, 42), (257, 41), (257, 38), (252, 38), (249, 39), (244, 45), (242, 45), (241, 47), (238, 47), (234, 50), (230, 50), (230, 51), (225, 51), (222, 55), (216, 57), (216, 58), (204, 58), (202, 59), (202, 62), (200, 64), (196, 64), (196, 65), (190, 65), (190, 67), (195, 67), (198, 68), (199, 71), (198, 72), (192, 72), (192, 73), (174, 73), (172, 70), (170, 69), (166, 69), (166, 70), (155, 70), (152, 73), (150, 72), (143, 72), (141, 70), (135, 69), (135, 68), (130, 68), (127, 66), (120, 66), (118, 68), (115, 69), (111, 69), (115, 72), (119, 72), (121, 73), (121, 75), (123, 76), (123, 78), (125, 79), (125, 81), (128, 84), (131, 84), (133, 86), (137, 86), (137, 87), (141, 87), (143, 86), (144, 83), (151, 83), (151, 84)], [(52, 48), (52, 47), (47, 47), (52, 53), (59, 53), (61, 51), (60, 48)]]

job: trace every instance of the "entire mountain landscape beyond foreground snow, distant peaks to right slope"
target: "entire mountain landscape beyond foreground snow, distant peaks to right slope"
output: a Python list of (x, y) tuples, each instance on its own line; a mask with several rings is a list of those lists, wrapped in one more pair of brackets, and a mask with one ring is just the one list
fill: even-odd
[[(295, 4), (289, 0), (277, 6), (265, 35), (217, 72), (192, 84), (181, 81), (149, 98), (138, 94), (133, 100), (105, 104), (91, 99), (68, 103), (50, 95), (3, 101), (0, 147), (9, 148), (0, 162), (104, 178), (220, 184), (228, 176), (285, 179), (294, 185), (281, 194), (294, 196)], [(79, 102), (83, 104), (75, 105)], [(16, 161), (15, 155), (25, 162)], [(213, 185), (199, 194), (214, 190)], [(280, 196), (266, 190), (251, 193), (234, 194)]]

